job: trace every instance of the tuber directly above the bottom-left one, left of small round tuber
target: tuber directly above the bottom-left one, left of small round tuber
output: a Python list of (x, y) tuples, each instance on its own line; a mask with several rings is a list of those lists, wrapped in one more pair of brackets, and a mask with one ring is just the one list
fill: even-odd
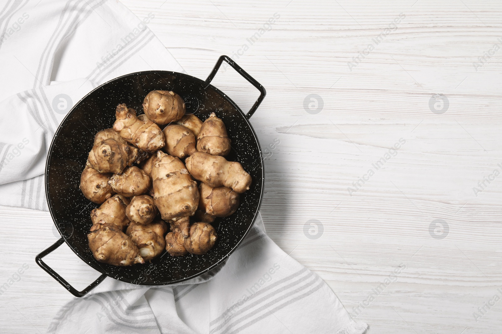
[(92, 227), (91, 231), (99, 229), (102, 224), (114, 224), (120, 230), (129, 225), (129, 219), (126, 215), (126, 207), (129, 204), (129, 198), (121, 195), (114, 195), (108, 198), (101, 206), (91, 211)]

